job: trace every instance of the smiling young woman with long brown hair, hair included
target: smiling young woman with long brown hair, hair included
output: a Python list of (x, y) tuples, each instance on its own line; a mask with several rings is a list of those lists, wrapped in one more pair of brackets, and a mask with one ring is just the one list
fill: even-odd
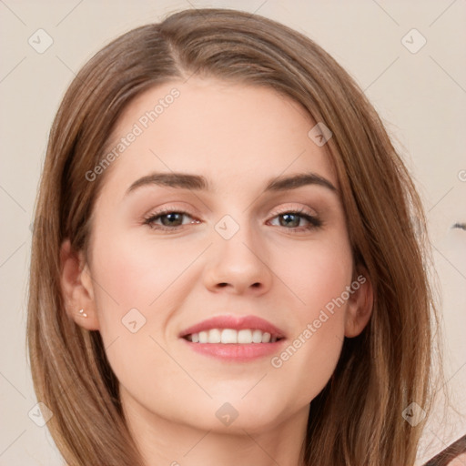
[(414, 463), (420, 198), (309, 38), (222, 9), (117, 38), (66, 92), (35, 215), (31, 366), (69, 466)]

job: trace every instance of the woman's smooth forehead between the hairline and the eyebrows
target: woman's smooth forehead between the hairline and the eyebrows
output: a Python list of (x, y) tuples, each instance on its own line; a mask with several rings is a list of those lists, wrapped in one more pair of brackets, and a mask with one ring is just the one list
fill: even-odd
[(106, 175), (126, 189), (152, 171), (201, 174), (218, 192), (312, 171), (338, 187), (326, 148), (309, 138), (315, 124), (303, 106), (266, 86), (172, 81), (127, 106), (106, 147), (117, 154)]

